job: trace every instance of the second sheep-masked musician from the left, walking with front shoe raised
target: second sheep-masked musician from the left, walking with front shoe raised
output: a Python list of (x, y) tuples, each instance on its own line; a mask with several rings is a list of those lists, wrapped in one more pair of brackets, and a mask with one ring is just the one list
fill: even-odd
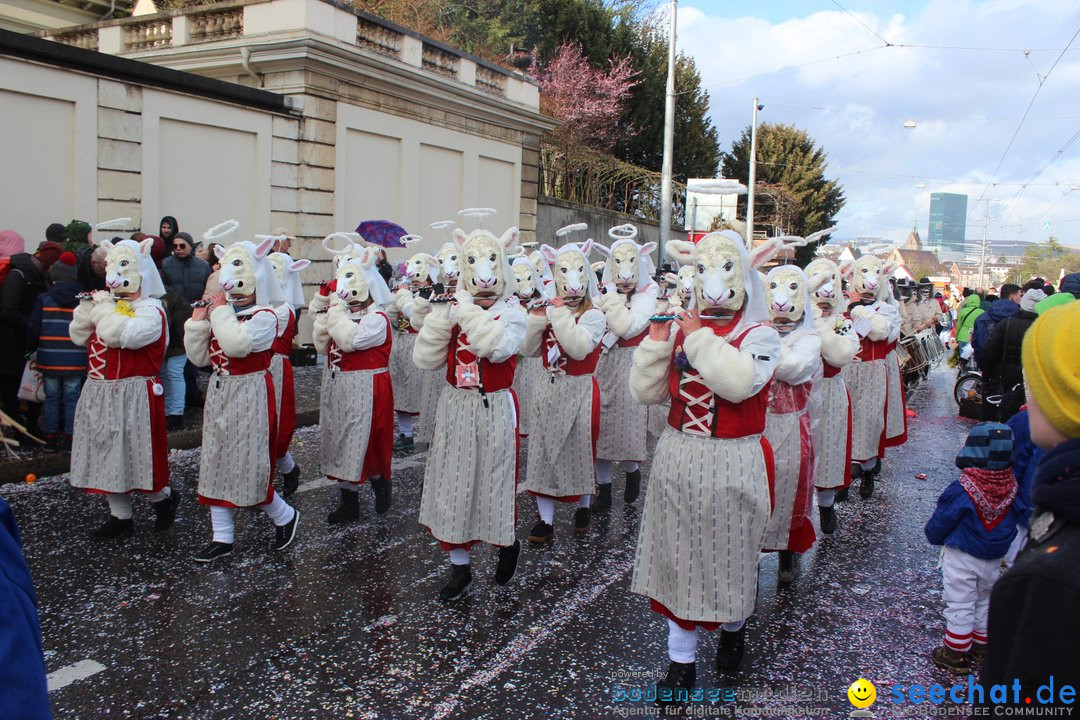
[[(229, 230), (234, 230), (233, 222)], [(229, 230), (203, 235), (217, 240)], [(199, 502), (210, 505), (214, 536), (194, 559), (213, 562), (230, 555), (238, 507), (259, 507), (274, 525), (272, 547), (296, 539), (300, 514), (273, 488), (278, 457), (276, 393), (270, 375), (273, 343), (283, 327), (275, 308), (285, 301), (267, 257), (272, 237), (218, 246), (222, 291), (197, 307), (184, 326), (184, 348), (197, 366), (213, 369), (203, 407)]]

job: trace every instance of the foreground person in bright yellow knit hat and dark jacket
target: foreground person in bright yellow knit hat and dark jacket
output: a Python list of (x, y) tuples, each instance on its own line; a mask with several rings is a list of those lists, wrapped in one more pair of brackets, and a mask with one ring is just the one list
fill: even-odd
[[(1028, 420), (1043, 456), (1031, 489), (1028, 545), (990, 596), (991, 649), (981, 677), (984, 688), (1018, 684), (1022, 706), (1051, 676), (1056, 688), (1080, 685), (1078, 327), (1080, 303), (1070, 302), (1041, 315), (1024, 337)], [(1048, 705), (1071, 703), (1055, 694)]]

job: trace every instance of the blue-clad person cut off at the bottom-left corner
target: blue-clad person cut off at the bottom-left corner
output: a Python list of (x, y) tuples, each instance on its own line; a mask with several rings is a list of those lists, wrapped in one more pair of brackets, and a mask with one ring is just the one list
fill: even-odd
[(49, 720), (38, 600), (11, 507), (0, 499), (0, 717)]

